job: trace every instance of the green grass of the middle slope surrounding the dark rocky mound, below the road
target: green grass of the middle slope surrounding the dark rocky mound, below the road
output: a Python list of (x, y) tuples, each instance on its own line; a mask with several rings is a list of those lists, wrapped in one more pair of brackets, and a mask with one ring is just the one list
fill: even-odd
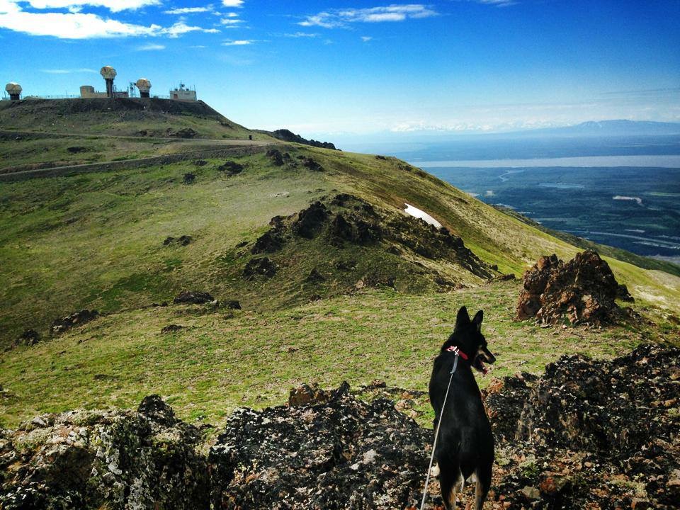
[[(503, 272), (521, 275), (541, 254), (570, 258), (577, 248), (470, 198), (453, 186), (396, 159), (280, 145), (313, 157), (325, 171), (302, 166), (273, 166), (259, 153), (236, 158), (246, 169), (227, 177), (217, 171), (224, 160), (205, 166), (182, 162), (129, 171), (79, 174), (51, 179), (0, 183), (0, 344), (26, 328), (43, 334), (56, 317), (81, 308), (115, 312), (171, 300), (180, 290), (207, 290), (216, 297), (238, 297), (260, 311), (277, 310), (309, 299), (346, 292), (371, 268), (402, 271), (411, 285), (412, 263), (464, 285), (480, 278), (455, 263), (404, 259), (384, 251), (353, 253), (332, 249), (322, 240), (302, 241), (275, 254), (283, 267), (271, 281), (246, 282), (241, 271), (249, 259), (239, 242), (253, 242), (274, 215), (290, 215), (312, 200), (346, 191), (376, 206), (398, 210), (405, 202), (429, 212), (466, 246)], [(196, 183), (182, 183), (183, 174)], [(163, 246), (166, 237), (191, 235), (189, 246)], [(305, 286), (311, 268), (331, 268), (353, 257), (361, 267), (322, 288)], [(678, 313), (680, 278), (645, 271), (609, 259), (613, 271), (642, 304)], [(410, 272), (409, 272), (410, 271)], [(401, 273), (400, 273), (401, 274)], [(409, 276), (409, 274), (411, 276)], [(335, 283), (334, 283), (335, 282)]]

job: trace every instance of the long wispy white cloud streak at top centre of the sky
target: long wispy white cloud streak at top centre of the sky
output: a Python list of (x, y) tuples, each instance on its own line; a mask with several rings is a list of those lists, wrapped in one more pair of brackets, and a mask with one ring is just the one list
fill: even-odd
[(300, 26), (322, 28), (346, 27), (348, 23), (381, 23), (437, 16), (437, 12), (424, 4), (392, 4), (382, 7), (345, 8), (323, 11), (297, 23)]

